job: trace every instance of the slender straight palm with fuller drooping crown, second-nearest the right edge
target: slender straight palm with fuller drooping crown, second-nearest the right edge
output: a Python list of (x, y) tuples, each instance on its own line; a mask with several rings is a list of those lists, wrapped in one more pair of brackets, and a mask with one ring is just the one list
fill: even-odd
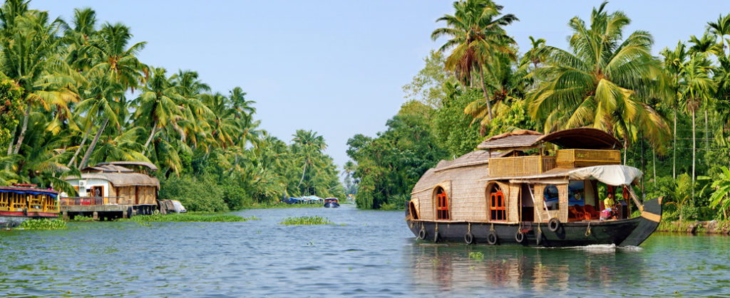
[(710, 78), (710, 60), (705, 58), (704, 54), (696, 53), (685, 63), (682, 68), (681, 76), (683, 77), (685, 87), (683, 98), (685, 98), (686, 110), (692, 114), (692, 199), (694, 200), (694, 180), (695, 180), (695, 112), (703, 101), (715, 93), (717, 86)]

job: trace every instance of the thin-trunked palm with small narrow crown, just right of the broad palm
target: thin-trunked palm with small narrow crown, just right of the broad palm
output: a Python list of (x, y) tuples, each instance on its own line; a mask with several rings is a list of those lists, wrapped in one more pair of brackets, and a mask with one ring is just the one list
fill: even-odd
[(677, 42), (675, 50), (664, 48), (660, 54), (664, 56), (664, 71), (666, 71), (666, 76), (670, 78), (669, 88), (672, 89), (672, 95), (667, 98), (675, 114), (674, 133), (672, 133), (674, 139), (672, 144), (672, 179), (677, 179), (677, 109), (679, 109), (680, 80), (682, 79), (680, 73), (687, 59), (687, 52), (685, 52), (685, 44), (680, 41)]

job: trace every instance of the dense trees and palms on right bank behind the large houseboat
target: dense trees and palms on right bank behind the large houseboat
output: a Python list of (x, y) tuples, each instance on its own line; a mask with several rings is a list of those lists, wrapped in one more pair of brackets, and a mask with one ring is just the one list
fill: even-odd
[[(651, 34), (625, 32), (631, 19), (607, 7), (593, 9), (588, 20), (569, 20), (568, 49), (531, 36), (520, 53), (507, 35), (517, 16), (502, 15), (504, 8), (489, 0), (454, 2), (453, 15), (437, 20), (445, 28), (432, 34), (447, 40), (403, 88), (406, 98), (429, 107), (418, 128), (432, 138), (411, 135), (415, 144), (399, 143), (391, 122), (404, 109), (376, 138), (351, 138), (358, 208), (389, 208), (395, 200), (402, 206), (418, 181), (414, 174), (490, 136), (590, 126), (623, 141), (626, 165), (645, 173), (638, 189), (664, 197), (665, 218), (728, 218), (730, 14), (653, 56)], [(431, 146), (432, 154), (401, 156), (413, 146)], [(404, 170), (397, 166), (404, 161), (415, 163)]]

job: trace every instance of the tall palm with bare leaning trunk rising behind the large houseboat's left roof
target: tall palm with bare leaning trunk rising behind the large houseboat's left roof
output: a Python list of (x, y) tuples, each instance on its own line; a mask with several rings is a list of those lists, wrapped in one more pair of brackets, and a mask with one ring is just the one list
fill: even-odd
[(514, 43), (502, 26), (518, 20), (515, 15), (500, 15), (502, 6), (489, 0), (466, 0), (453, 3), (454, 15), (444, 15), (436, 21), (445, 21), (447, 28), (438, 28), (431, 33), (431, 39), (449, 36), (440, 52), (453, 48), (446, 58), (447, 70), (454, 71), (461, 82), (472, 82), (472, 71), (479, 68), (482, 90), (487, 105), (488, 119), (492, 119), (491, 103), (485, 85), (484, 65), (490, 63), (493, 52), (502, 52), (511, 57), (508, 44)]

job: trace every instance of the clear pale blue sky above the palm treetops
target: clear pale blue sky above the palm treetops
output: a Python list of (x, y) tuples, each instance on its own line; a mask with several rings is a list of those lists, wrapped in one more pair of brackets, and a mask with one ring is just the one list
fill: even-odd
[[(566, 48), (566, 26), (588, 20), (602, 1), (498, 1), (519, 22), (507, 27), (520, 48), (528, 36)], [(290, 142), (297, 129), (315, 130), (338, 165), (347, 138), (375, 136), (404, 102), (429, 50), (434, 21), (452, 1), (93, 1), (33, 0), (31, 8), (70, 21), (75, 7), (96, 10), (100, 23), (131, 27), (146, 41), (139, 58), (168, 72), (198, 71), (214, 91), (242, 87), (256, 101), (261, 128)], [(611, 1), (637, 29), (653, 34), (653, 52), (702, 35), (708, 21), (730, 12), (730, 1)], [(630, 34), (626, 32), (625, 34)]]

